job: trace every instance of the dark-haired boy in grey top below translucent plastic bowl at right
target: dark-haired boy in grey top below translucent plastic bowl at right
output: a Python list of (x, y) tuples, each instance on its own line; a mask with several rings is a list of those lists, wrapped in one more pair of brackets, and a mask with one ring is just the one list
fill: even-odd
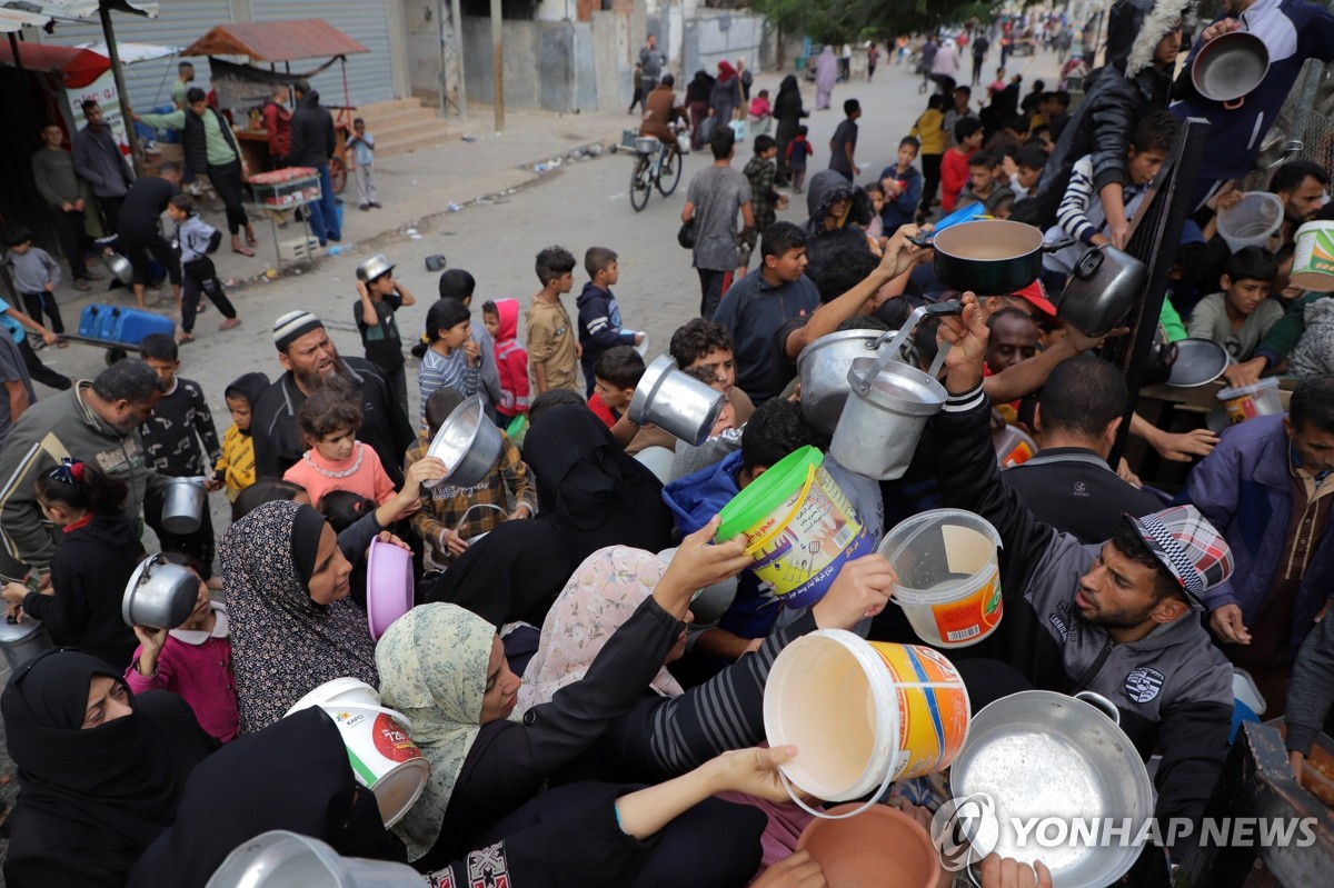
[(1283, 316), (1281, 300), (1269, 299), (1278, 261), (1263, 247), (1247, 247), (1227, 260), (1219, 279), (1223, 292), (1205, 296), (1190, 313), (1186, 329), (1193, 339), (1211, 339), (1246, 361), (1269, 328)]

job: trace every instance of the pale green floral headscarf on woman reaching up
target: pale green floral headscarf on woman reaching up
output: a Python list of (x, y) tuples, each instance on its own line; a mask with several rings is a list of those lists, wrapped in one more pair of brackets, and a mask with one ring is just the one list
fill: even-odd
[[(431, 763), (426, 791), (394, 832), (408, 860), (423, 857), (440, 837), (440, 823), (463, 763), (482, 731), (494, 625), (456, 604), (423, 604), (395, 620), (375, 660), (384, 676), (380, 703), (412, 721), (412, 741)], [(515, 709), (511, 720), (519, 720)]]

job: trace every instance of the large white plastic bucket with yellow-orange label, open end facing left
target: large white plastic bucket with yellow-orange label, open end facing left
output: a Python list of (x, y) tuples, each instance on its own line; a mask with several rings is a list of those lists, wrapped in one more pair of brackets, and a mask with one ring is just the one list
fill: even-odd
[[(943, 653), (863, 641), (843, 629), (788, 644), (764, 685), (770, 743), (800, 751), (780, 775), (827, 801), (874, 793), (870, 805), (892, 780), (947, 768), (967, 740), (970, 717), (968, 692)], [(864, 808), (807, 811), (840, 819)]]

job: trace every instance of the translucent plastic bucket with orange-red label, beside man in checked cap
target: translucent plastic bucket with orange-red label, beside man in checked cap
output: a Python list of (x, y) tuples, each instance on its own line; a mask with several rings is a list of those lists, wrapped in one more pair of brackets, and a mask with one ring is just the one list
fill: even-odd
[(960, 509), (931, 509), (899, 523), (880, 541), (880, 555), (899, 581), (892, 601), (927, 644), (963, 648), (1000, 625), (1000, 535)]

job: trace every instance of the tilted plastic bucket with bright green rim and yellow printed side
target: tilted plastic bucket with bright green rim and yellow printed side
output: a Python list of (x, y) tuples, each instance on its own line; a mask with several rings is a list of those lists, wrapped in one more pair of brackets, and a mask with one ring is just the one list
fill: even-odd
[(814, 447), (788, 453), (723, 507), (718, 528), (719, 540), (746, 535), (750, 569), (792, 608), (824, 597), (843, 564), (874, 545), (823, 461)]

